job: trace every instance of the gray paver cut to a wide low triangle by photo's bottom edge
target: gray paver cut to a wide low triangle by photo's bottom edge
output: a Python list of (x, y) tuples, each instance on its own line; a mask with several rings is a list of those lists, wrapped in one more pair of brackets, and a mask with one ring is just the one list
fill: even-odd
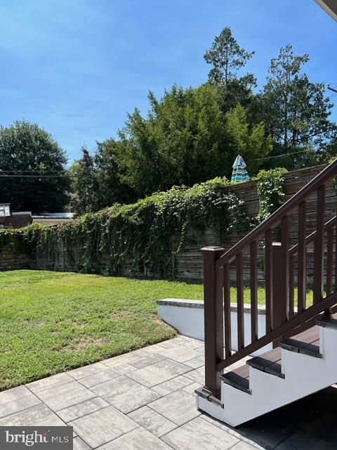
[(160, 439), (143, 428), (136, 428), (126, 435), (100, 447), (100, 450), (171, 450)]

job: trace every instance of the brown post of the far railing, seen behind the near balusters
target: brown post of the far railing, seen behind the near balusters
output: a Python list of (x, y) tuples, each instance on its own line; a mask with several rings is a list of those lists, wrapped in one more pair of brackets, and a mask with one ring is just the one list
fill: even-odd
[[(272, 303), (271, 319), (272, 330), (279, 328), (289, 320), (289, 266), (286, 262), (282, 244), (272, 243)], [(282, 340), (279, 339), (279, 340)], [(273, 342), (273, 347), (277, 342)]]

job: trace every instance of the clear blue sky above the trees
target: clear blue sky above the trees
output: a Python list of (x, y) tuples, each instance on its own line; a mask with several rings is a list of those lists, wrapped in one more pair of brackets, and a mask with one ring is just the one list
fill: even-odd
[(288, 43), (310, 54), (312, 81), (337, 82), (337, 23), (314, 0), (1, 1), (0, 124), (37, 122), (72, 162), (135, 106), (146, 113), (149, 89), (204, 82), (204, 51), (226, 25), (256, 50), (246, 70), (260, 85)]

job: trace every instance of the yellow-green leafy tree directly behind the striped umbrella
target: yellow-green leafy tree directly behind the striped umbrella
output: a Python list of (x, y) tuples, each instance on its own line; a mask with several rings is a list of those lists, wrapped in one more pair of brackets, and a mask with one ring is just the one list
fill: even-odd
[(272, 139), (265, 133), (265, 124), (249, 125), (246, 110), (239, 103), (226, 114), (227, 149), (242, 155), (250, 176), (255, 176), (263, 158), (272, 151)]

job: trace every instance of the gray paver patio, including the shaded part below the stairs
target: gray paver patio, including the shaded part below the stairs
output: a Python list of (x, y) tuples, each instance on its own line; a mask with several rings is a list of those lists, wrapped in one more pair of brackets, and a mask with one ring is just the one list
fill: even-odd
[(75, 450), (337, 448), (336, 387), (236, 429), (201, 414), (203, 352), (179, 336), (14, 387), (0, 393), (0, 425), (72, 425)]

